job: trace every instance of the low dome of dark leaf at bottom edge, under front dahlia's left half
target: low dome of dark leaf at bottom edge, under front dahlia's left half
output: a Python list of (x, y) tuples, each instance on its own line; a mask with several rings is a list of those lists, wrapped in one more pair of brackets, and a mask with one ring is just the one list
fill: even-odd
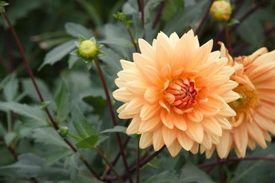
[(164, 171), (162, 173), (159, 173), (157, 175), (153, 175), (146, 182), (144, 183), (178, 183), (179, 182), (179, 176), (174, 171)]

